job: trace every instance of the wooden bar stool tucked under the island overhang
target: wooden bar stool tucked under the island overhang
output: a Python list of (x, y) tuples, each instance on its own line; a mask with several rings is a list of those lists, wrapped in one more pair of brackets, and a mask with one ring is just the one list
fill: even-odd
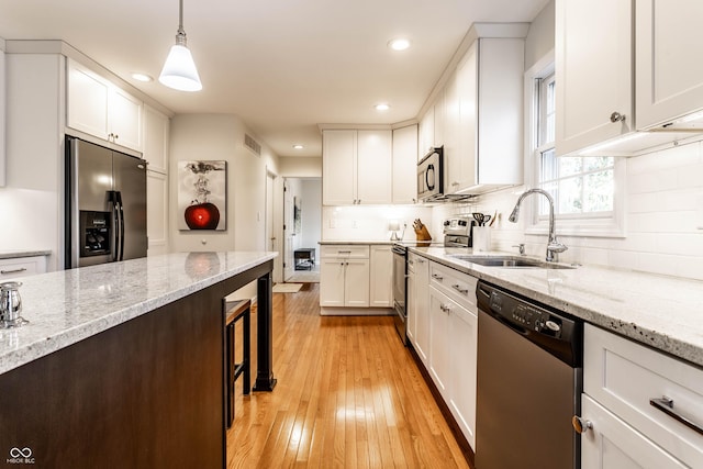
[[(248, 394), (252, 390), (252, 350), (250, 350), (250, 309), (252, 301), (250, 300), (239, 300), (239, 301), (227, 301), (225, 305), (225, 336), (226, 336), (226, 397), (225, 401), (227, 402), (227, 428), (232, 426), (234, 422), (234, 383), (239, 378), (241, 375), (244, 375), (243, 382), (243, 392), (244, 394)], [(243, 331), (242, 331), (242, 349), (243, 357), (241, 362), (236, 362), (235, 358), (235, 333), (234, 328), (237, 321), (242, 321)]]

